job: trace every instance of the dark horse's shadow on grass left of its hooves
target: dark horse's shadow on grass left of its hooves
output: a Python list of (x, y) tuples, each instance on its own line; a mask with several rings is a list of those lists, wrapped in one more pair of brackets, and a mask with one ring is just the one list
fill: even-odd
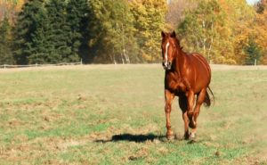
[(128, 142), (135, 142), (135, 143), (144, 143), (147, 141), (153, 142), (154, 140), (158, 139), (159, 141), (165, 141), (166, 136), (163, 135), (132, 135), (132, 134), (120, 134), (114, 135), (109, 140), (97, 139), (94, 142), (96, 143), (107, 143), (107, 142), (119, 142), (119, 141), (128, 141)]

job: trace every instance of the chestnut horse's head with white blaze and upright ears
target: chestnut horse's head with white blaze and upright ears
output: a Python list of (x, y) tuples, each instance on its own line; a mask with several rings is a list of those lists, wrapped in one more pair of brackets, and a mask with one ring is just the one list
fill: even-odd
[(177, 38), (175, 31), (172, 33), (161, 32), (162, 43), (162, 66), (165, 70), (171, 70), (174, 59), (176, 58), (175, 49), (177, 48)]

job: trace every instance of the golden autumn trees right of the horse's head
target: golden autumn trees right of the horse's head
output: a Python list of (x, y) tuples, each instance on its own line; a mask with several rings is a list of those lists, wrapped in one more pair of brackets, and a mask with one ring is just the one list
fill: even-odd
[[(181, 4), (180, 16), (172, 17)], [(245, 0), (173, 0), (170, 6), (167, 21), (176, 25), (186, 50), (214, 63), (267, 64), (266, 0), (255, 6)]]

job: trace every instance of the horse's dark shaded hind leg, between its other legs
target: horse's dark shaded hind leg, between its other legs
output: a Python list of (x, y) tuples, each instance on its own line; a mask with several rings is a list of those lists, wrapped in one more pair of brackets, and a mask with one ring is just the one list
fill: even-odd
[(185, 95), (179, 96), (179, 106), (182, 110), (182, 120), (184, 122), (184, 138), (188, 139), (189, 134), (189, 119), (187, 115), (188, 105), (187, 105), (187, 97)]

